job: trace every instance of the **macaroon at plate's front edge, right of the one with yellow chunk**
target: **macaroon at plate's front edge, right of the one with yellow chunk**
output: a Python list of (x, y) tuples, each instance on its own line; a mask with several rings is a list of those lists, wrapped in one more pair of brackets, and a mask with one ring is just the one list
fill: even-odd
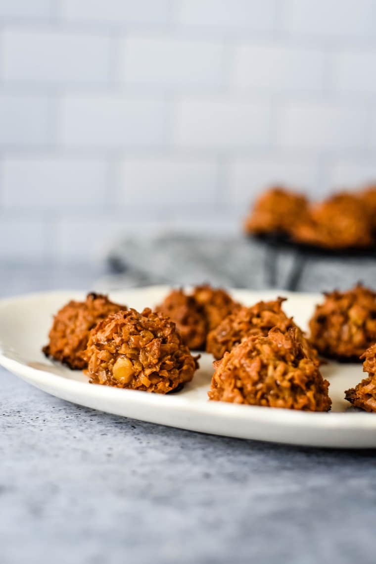
[(250, 406), (328, 411), (329, 382), (303, 351), (297, 328), (252, 336), (214, 362), (209, 399)]

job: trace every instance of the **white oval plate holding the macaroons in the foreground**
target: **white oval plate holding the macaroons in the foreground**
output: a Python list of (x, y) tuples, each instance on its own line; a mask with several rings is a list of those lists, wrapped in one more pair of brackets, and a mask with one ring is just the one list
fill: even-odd
[[(127, 289), (110, 298), (141, 310), (160, 302), (167, 287)], [(285, 310), (304, 329), (319, 294), (285, 291), (232, 290), (239, 301), (251, 305), (278, 295), (288, 297)], [(213, 357), (202, 354), (200, 369), (182, 391), (171, 395), (148, 394), (89, 384), (79, 371), (51, 363), (41, 352), (47, 342), (52, 315), (82, 292), (47, 292), (0, 302), (0, 364), (33, 386), (82, 406), (124, 417), (181, 429), (244, 439), (316, 447), (376, 448), (376, 414), (358, 412), (344, 400), (344, 390), (362, 378), (361, 364), (330, 363), (322, 374), (330, 381), (333, 407), (329, 413), (309, 413), (267, 407), (209, 402), (207, 390)]]

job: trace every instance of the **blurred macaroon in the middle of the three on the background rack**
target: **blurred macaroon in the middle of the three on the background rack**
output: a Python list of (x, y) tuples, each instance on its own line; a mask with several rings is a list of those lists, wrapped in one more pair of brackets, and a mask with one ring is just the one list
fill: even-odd
[(312, 205), (308, 217), (291, 222), (289, 233), (297, 243), (326, 249), (365, 248), (373, 243), (364, 202), (347, 192)]

